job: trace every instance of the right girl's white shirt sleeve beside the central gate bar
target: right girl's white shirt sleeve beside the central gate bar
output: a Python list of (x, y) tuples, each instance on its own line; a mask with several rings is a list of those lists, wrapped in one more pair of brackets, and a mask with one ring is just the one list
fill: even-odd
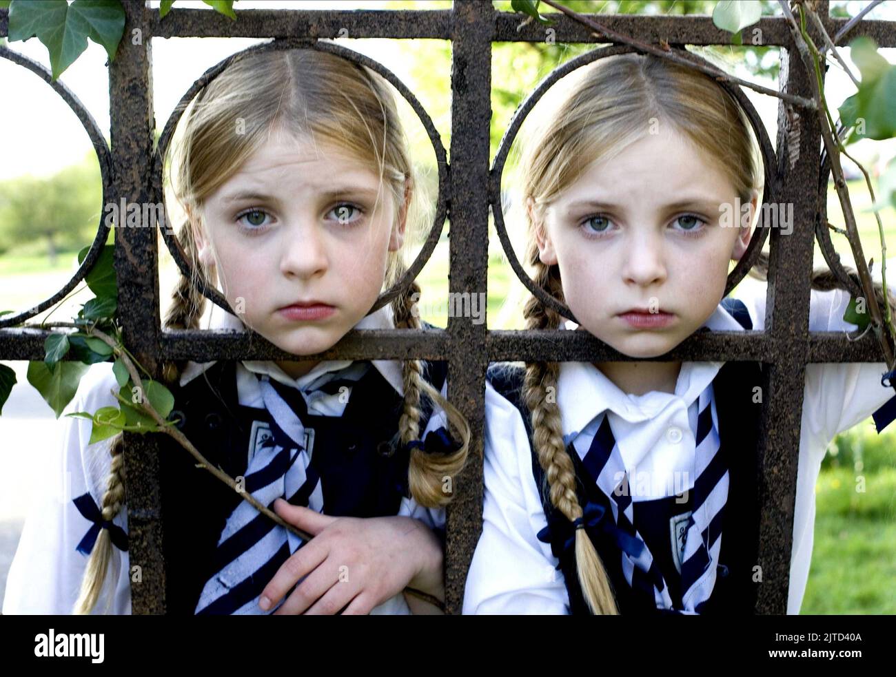
[(564, 578), (550, 545), (532, 475), (529, 436), (516, 407), (486, 386), (485, 501), (463, 613), (569, 613)]

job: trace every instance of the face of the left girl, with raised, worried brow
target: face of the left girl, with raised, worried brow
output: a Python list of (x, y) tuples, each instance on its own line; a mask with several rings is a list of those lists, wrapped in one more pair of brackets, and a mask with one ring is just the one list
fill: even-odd
[[(406, 193), (409, 198), (409, 192)], [(199, 258), (239, 318), (297, 355), (332, 347), (374, 304), (404, 213), (344, 150), (273, 130), (203, 205)]]

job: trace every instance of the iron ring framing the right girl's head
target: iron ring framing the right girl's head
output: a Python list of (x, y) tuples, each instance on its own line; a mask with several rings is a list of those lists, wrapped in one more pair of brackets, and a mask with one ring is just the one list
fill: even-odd
[[(674, 48), (677, 54), (681, 56), (685, 56), (695, 63), (707, 65), (710, 67), (716, 67), (710, 64), (705, 59), (702, 59), (700, 56), (696, 56), (686, 51), (685, 49)], [(520, 131), (520, 126), (527, 115), (529, 115), (530, 110), (535, 104), (538, 103), (538, 100), (541, 99), (547, 90), (549, 90), (556, 81), (560, 80), (564, 76), (572, 73), (574, 70), (581, 68), (584, 65), (590, 64), (593, 61), (597, 61), (600, 58), (604, 58), (605, 56), (615, 56), (617, 54), (626, 54), (628, 52), (637, 52), (638, 50), (634, 47), (629, 47), (627, 45), (614, 45), (612, 47), (601, 47), (599, 49), (595, 49), (587, 54), (583, 54), (582, 56), (577, 56), (572, 61), (567, 64), (564, 64), (557, 68), (554, 72), (550, 73), (547, 78), (538, 83), (538, 87), (532, 91), (532, 93), (526, 98), (525, 101), (522, 102), (521, 106), (517, 108), (516, 112), (513, 114), (513, 120), (511, 120), (510, 126), (507, 127), (507, 130), (504, 132), (504, 138), (501, 140), (501, 144), (498, 146), (497, 155), (495, 155), (495, 162), (492, 165), (492, 169), (490, 172), (490, 185), (488, 187), (488, 201), (491, 204), (492, 215), (495, 218), (495, 229), (497, 230), (498, 237), (501, 240), (501, 246), (504, 247), (504, 253), (507, 254), (507, 260), (510, 261), (511, 267), (513, 271), (516, 273), (517, 278), (520, 279), (523, 285), (525, 285), (530, 292), (537, 296), (538, 299), (546, 304), (551, 310), (559, 313), (562, 317), (572, 320), (576, 323), (578, 321), (575, 319), (575, 315), (573, 311), (571, 311), (566, 304), (558, 301), (554, 296), (550, 296), (547, 292), (538, 287), (537, 284), (529, 277), (529, 274), (522, 268), (520, 261), (516, 258), (516, 253), (513, 252), (513, 244), (510, 242), (510, 238), (507, 236), (507, 229), (504, 226), (504, 212), (501, 209), (501, 178), (504, 175), (504, 163), (507, 161), (507, 156), (510, 153), (511, 145), (513, 144), (513, 140), (516, 138), (517, 133)], [(710, 77), (710, 76), (707, 76)], [(753, 104), (750, 103), (750, 100), (746, 98), (743, 90), (740, 89), (737, 85), (727, 82), (727, 81), (719, 81), (719, 85), (721, 85), (728, 94), (730, 94), (740, 107), (744, 109), (746, 116), (750, 120), (750, 124), (753, 127), (756, 140), (759, 141), (760, 149), (762, 150), (762, 165), (765, 176), (765, 185), (763, 188), (762, 195), (762, 204), (774, 204), (774, 197), (779, 194), (778, 188), (778, 177), (773, 174), (773, 168), (778, 167), (778, 161), (775, 158), (775, 152), (772, 149), (771, 141), (769, 141), (768, 134), (765, 132), (765, 127), (762, 125), (762, 120), (759, 117), (759, 114), (756, 112), (756, 109), (753, 107)], [(761, 210), (762, 217), (768, 218), (769, 210)], [(750, 240), (750, 244), (744, 253), (744, 256), (741, 257), (740, 261), (737, 261), (737, 266), (734, 270), (730, 272), (728, 275), (728, 283), (725, 286), (725, 294), (724, 296), (728, 296), (728, 293), (737, 285), (740, 280), (744, 279), (747, 271), (750, 270), (756, 260), (759, 258), (760, 253), (762, 253), (762, 245), (765, 244), (765, 239), (769, 236), (768, 230), (770, 225), (766, 223), (767, 219), (761, 219), (756, 224), (756, 229), (754, 231), (754, 235)]]

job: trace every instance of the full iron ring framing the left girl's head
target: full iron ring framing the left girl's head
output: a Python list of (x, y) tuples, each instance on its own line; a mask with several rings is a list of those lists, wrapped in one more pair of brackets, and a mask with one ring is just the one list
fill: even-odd
[(209, 82), (218, 77), (218, 75), (220, 75), (220, 73), (224, 71), (230, 64), (233, 64), (240, 59), (244, 59), (247, 56), (253, 56), (259, 52), (281, 49), (316, 49), (321, 52), (329, 52), (330, 54), (348, 59), (355, 64), (366, 66), (375, 73), (379, 73), (383, 76), (383, 78), (385, 78), (386, 81), (389, 81), (396, 90), (399, 91), (401, 96), (404, 97), (404, 99), (409, 103), (410, 107), (414, 109), (414, 112), (417, 113), (418, 117), (420, 118), (420, 122), (426, 129), (426, 134), (429, 136), (429, 141), (431, 141), (433, 144), (433, 150), (435, 150), (435, 161), (439, 173), (439, 191), (438, 201), (435, 209), (435, 219), (433, 220), (432, 227), (430, 227), (429, 236), (427, 236), (426, 242), (423, 244), (423, 248), (418, 253), (417, 258), (414, 260), (414, 262), (411, 264), (402, 278), (391, 288), (384, 291), (376, 299), (376, 303), (367, 312), (367, 314), (369, 315), (370, 313), (374, 313), (375, 311), (382, 308), (383, 305), (388, 304), (395, 297), (400, 296), (401, 293), (403, 293), (413, 283), (414, 279), (417, 278), (418, 273), (423, 269), (423, 266), (426, 265), (426, 261), (429, 260), (429, 257), (433, 253), (433, 250), (435, 250), (435, 245), (438, 244), (439, 236), (441, 236), (442, 234), (442, 227), (444, 226), (444, 220), (447, 211), (446, 205), (448, 186), (448, 163), (445, 158), (445, 150), (444, 146), (442, 145), (442, 137), (435, 130), (435, 124), (433, 124), (432, 119), (426, 113), (426, 109), (420, 104), (417, 97), (414, 96), (414, 94), (394, 73), (392, 73), (392, 71), (383, 66), (383, 64), (380, 64), (367, 56), (358, 54), (358, 52), (352, 51), (347, 47), (341, 47), (340, 45), (334, 45), (328, 42), (309, 41), (307, 39), (274, 39), (271, 42), (266, 42), (262, 45), (255, 45), (254, 47), (249, 47), (242, 52), (237, 52), (237, 54), (228, 56), (219, 64), (212, 66), (205, 73), (202, 73), (202, 77), (200, 77), (199, 80), (195, 81), (193, 83), (193, 86), (190, 87), (189, 90), (187, 90), (186, 94), (178, 102), (177, 107), (175, 107), (174, 112), (168, 118), (168, 123), (165, 124), (165, 129), (162, 131), (161, 136), (159, 137), (159, 145), (156, 149), (156, 152), (153, 153), (151, 186), (151, 192), (153, 196), (152, 199), (157, 204), (163, 205), (163, 213), (165, 216), (165, 222), (164, 224), (159, 224), (159, 229), (161, 231), (162, 237), (165, 239), (165, 244), (168, 245), (168, 251), (177, 262), (177, 267), (186, 276), (187, 279), (193, 280), (192, 284), (194, 284), (196, 290), (199, 291), (202, 296), (205, 296), (207, 299), (209, 299), (212, 303), (219, 305), (228, 313), (236, 315), (237, 313), (234, 313), (230, 308), (227, 299), (225, 299), (224, 296), (221, 295), (218, 289), (208, 283), (208, 280), (205, 279), (205, 276), (202, 275), (200, 271), (197, 270), (194, 277), (192, 264), (190, 261), (186, 260), (184, 250), (181, 248), (180, 243), (177, 242), (177, 237), (174, 236), (174, 233), (170, 228), (165, 227), (165, 225), (169, 223), (169, 220), (168, 207), (165, 206), (164, 193), (162, 191), (162, 168), (165, 159), (165, 151), (168, 148), (168, 143), (171, 141), (171, 136), (174, 133), (177, 122), (184, 114), (186, 107), (199, 93), (199, 91), (202, 90), (202, 88), (205, 87)]

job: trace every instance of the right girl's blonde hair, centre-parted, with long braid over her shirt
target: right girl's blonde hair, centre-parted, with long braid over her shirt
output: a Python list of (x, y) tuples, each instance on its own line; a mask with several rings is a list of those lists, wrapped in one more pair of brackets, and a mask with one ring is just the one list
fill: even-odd
[[(528, 224), (527, 261), (533, 279), (547, 294), (564, 303), (557, 265), (547, 266), (538, 256), (535, 229), (542, 227), (544, 209), (573, 184), (591, 163), (607, 161), (625, 146), (646, 135), (651, 120), (670, 124), (702, 149), (728, 177), (742, 202), (760, 187), (760, 156), (748, 118), (737, 101), (718, 82), (686, 66), (657, 56), (608, 56), (578, 73), (567, 94), (559, 99), (554, 115), (527, 140), (522, 153), (522, 201), (534, 201)], [(762, 253), (750, 273), (766, 279), (769, 259)], [(857, 277), (850, 273), (854, 280)], [(816, 289), (841, 287), (830, 270), (814, 270)], [(876, 286), (883, 304), (883, 292)], [(893, 297), (891, 296), (891, 303)], [(562, 318), (531, 296), (523, 310), (527, 329), (557, 329)], [(530, 409), (532, 445), (545, 471), (543, 490), (565, 518), (582, 517), (576, 495), (573, 461), (563, 440), (562, 419), (556, 398), (557, 363), (526, 363), (523, 398)], [(551, 390), (553, 389), (553, 390)], [(575, 533), (576, 573), (582, 595), (592, 613), (618, 613), (607, 571), (584, 529)]]

